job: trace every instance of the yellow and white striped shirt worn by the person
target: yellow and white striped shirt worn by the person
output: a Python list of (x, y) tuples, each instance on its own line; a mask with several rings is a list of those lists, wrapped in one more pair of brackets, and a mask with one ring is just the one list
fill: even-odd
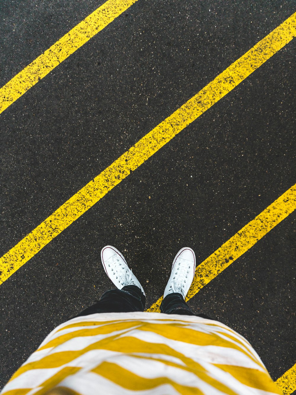
[(1, 394), (281, 394), (244, 337), (217, 321), (148, 312), (59, 325)]

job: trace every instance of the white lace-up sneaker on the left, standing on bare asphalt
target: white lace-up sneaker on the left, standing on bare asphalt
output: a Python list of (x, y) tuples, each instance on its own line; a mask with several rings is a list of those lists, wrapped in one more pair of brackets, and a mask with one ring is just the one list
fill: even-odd
[(129, 269), (126, 260), (115, 247), (103, 247), (101, 250), (101, 260), (107, 276), (119, 290), (126, 285), (136, 285), (145, 295), (139, 280), (131, 269)]

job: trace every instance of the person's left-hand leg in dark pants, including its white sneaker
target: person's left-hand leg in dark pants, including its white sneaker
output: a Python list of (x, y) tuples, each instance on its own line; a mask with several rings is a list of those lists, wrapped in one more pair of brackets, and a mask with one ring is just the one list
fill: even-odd
[(101, 260), (107, 276), (118, 289), (105, 292), (99, 301), (77, 317), (95, 313), (144, 311), (145, 292), (122, 254), (115, 247), (105, 246), (101, 250)]

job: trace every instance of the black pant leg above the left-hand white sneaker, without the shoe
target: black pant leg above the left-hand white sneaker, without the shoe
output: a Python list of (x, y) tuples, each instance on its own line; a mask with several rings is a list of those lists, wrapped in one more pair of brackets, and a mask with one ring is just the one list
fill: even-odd
[(99, 301), (77, 314), (76, 317), (95, 313), (144, 311), (145, 303), (146, 297), (140, 288), (135, 285), (127, 285), (121, 290), (105, 292)]

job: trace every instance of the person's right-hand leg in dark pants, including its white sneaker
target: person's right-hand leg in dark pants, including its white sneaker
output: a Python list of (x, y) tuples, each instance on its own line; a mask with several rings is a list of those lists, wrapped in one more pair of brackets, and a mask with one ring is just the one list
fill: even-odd
[(182, 314), (208, 318), (206, 314), (196, 314), (185, 302), (195, 273), (195, 254), (189, 247), (181, 248), (172, 263), (172, 272), (165, 287), (160, 311), (165, 314)]

